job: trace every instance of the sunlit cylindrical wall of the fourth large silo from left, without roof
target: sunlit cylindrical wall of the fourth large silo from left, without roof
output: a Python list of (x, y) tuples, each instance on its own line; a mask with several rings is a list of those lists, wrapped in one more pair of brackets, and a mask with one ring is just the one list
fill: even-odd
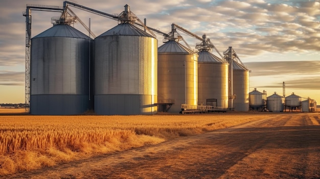
[(198, 103), (217, 99), (217, 106), (228, 107), (228, 64), (198, 62)]

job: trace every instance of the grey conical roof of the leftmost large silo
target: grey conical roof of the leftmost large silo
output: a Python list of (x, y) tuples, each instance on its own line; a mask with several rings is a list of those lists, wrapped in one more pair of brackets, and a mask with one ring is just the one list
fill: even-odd
[(33, 39), (42, 38), (42, 37), (72, 37), (72, 38), (91, 39), (87, 35), (83, 34), (82, 32), (78, 31), (77, 29), (71, 27), (68, 24), (54, 25), (52, 28), (36, 35), (35, 37), (33, 37)]

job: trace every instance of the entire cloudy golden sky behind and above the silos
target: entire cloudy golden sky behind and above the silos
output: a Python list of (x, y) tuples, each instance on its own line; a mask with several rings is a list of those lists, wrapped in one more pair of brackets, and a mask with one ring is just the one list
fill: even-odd
[[(75, 2), (75, 1), (70, 1)], [(202, 36), (206, 34), (223, 53), (232, 46), (249, 69), (249, 91), (277, 92), (315, 99), (320, 104), (320, 2), (319, 0), (78, 0), (75, 2), (108, 14), (120, 14), (128, 4), (147, 26), (169, 33), (175, 23)], [(25, 103), (27, 4), (63, 6), (57, 0), (0, 1), (0, 104)], [(71, 9), (96, 36), (118, 22)], [(57, 12), (32, 11), (32, 37), (52, 27)], [(88, 34), (80, 23), (74, 27)], [(195, 49), (201, 41), (179, 32)], [(163, 36), (156, 34), (158, 45)], [(183, 42), (181, 42), (184, 44)], [(216, 52), (213, 52), (216, 53)]]

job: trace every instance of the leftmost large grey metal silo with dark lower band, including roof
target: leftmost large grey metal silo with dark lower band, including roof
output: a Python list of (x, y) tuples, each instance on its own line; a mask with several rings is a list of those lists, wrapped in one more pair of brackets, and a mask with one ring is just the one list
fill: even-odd
[(93, 41), (67, 24), (31, 39), (30, 113), (81, 114), (90, 108), (89, 59)]

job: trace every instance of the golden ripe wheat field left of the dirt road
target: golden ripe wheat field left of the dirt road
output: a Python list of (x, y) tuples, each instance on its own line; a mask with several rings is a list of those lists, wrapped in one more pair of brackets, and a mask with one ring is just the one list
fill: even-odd
[[(153, 116), (0, 115), (0, 176), (156, 144), (241, 123), (265, 113)], [(275, 117), (275, 115), (272, 115)]]

